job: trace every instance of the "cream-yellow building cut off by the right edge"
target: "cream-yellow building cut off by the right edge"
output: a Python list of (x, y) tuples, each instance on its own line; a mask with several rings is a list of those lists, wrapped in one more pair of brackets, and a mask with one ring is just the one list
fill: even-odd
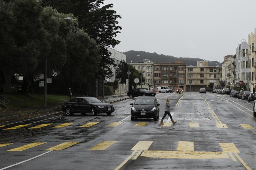
[(256, 87), (256, 58), (255, 58), (255, 35), (256, 35), (256, 29), (254, 30), (254, 33), (250, 33), (248, 35), (248, 58), (249, 58), (249, 68), (250, 68), (250, 74), (249, 74), (249, 90), (252, 91), (253, 87)]

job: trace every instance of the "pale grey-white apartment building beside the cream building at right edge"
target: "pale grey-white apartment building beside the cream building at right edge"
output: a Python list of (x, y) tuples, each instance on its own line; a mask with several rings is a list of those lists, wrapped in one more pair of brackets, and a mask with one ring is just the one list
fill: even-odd
[(238, 82), (243, 81), (248, 84), (246, 77), (246, 68), (248, 68), (248, 43), (242, 40), (238, 43), (236, 48), (236, 55), (234, 55), (234, 85), (239, 86)]

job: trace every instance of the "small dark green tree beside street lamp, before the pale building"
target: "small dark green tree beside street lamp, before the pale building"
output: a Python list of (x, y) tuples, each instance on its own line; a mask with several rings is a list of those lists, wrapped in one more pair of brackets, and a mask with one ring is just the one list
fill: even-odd
[[(121, 79), (121, 83), (124, 84), (126, 83), (126, 79), (128, 79), (128, 64), (124, 60), (121, 61), (118, 64), (118, 68), (116, 68), (116, 77), (118, 79)], [(137, 71), (132, 65), (130, 65), (130, 77), (129, 77), (129, 89), (132, 89), (132, 85), (134, 88), (136, 87), (136, 83), (134, 82), (135, 78), (138, 78), (140, 82), (137, 85), (141, 85), (141, 72)], [(142, 76), (142, 82), (145, 83), (145, 78)]]

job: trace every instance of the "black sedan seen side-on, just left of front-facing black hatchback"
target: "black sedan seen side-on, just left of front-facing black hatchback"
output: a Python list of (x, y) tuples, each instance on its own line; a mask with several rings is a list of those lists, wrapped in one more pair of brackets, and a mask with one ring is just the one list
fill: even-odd
[(74, 98), (68, 102), (63, 103), (62, 111), (66, 115), (73, 115), (73, 113), (91, 113), (91, 115), (96, 116), (98, 113), (106, 113), (111, 115), (115, 111), (112, 104), (104, 103), (94, 97), (78, 97)]

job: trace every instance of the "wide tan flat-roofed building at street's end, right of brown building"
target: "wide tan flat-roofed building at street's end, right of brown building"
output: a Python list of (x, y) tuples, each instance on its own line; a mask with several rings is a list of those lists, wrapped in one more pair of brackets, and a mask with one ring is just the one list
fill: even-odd
[(200, 88), (207, 88), (210, 83), (220, 85), (221, 67), (209, 67), (208, 61), (197, 61), (197, 66), (187, 66), (186, 71), (187, 91), (199, 92)]

